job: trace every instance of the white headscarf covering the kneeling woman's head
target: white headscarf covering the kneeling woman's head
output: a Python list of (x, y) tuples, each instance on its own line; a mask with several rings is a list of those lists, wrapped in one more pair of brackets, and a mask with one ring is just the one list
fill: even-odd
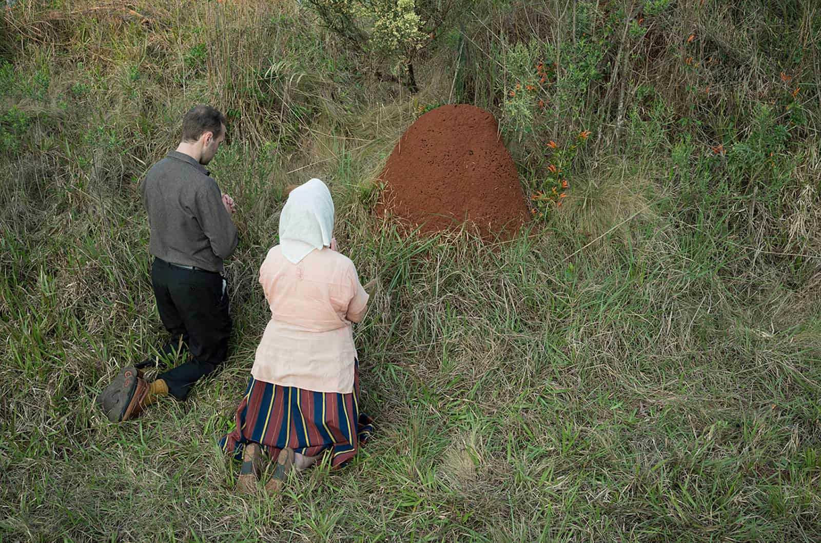
[(279, 216), (279, 244), (289, 262), (298, 264), (314, 249), (331, 244), (333, 212), (331, 191), (321, 180), (291, 191)]

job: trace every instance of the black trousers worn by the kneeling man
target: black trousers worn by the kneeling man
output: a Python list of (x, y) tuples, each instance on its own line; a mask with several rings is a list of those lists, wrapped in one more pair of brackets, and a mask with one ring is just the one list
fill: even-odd
[(188, 362), (157, 376), (177, 399), (186, 399), (190, 387), (227, 357), (232, 323), (228, 292), (227, 288), (223, 290), (222, 281), (217, 272), (185, 269), (154, 258), (151, 284), (159, 317), (171, 332), (163, 354), (182, 343), (191, 355)]

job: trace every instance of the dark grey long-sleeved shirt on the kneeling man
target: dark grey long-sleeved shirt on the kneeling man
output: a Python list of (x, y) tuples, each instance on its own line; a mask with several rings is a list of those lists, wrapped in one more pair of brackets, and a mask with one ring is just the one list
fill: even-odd
[(236, 226), (209, 171), (172, 151), (154, 164), (140, 185), (149, 214), (149, 253), (166, 262), (222, 272), (236, 249)]

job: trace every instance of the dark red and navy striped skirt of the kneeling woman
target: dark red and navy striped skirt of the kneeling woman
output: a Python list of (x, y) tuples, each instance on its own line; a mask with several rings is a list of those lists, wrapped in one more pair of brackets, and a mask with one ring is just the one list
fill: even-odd
[(329, 451), (331, 466), (337, 468), (355, 456), (373, 430), (373, 421), (359, 412), (355, 363), (354, 390), (348, 394), (273, 385), (251, 376), (236, 408), (236, 429), (219, 445), (238, 460), (248, 443), (259, 443), (273, 459), (285, 447), (305, 456)]

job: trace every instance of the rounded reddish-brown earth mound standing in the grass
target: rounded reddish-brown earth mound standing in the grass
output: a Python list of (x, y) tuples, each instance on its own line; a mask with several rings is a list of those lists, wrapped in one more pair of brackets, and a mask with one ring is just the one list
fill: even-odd
[(528, 219), (516, 165), (489, 112), (470, 105), (437, 107), (402, 135), (380, 179), (380, 215), (448, 230), (469, 221), (483, 237), (508, 237)]

